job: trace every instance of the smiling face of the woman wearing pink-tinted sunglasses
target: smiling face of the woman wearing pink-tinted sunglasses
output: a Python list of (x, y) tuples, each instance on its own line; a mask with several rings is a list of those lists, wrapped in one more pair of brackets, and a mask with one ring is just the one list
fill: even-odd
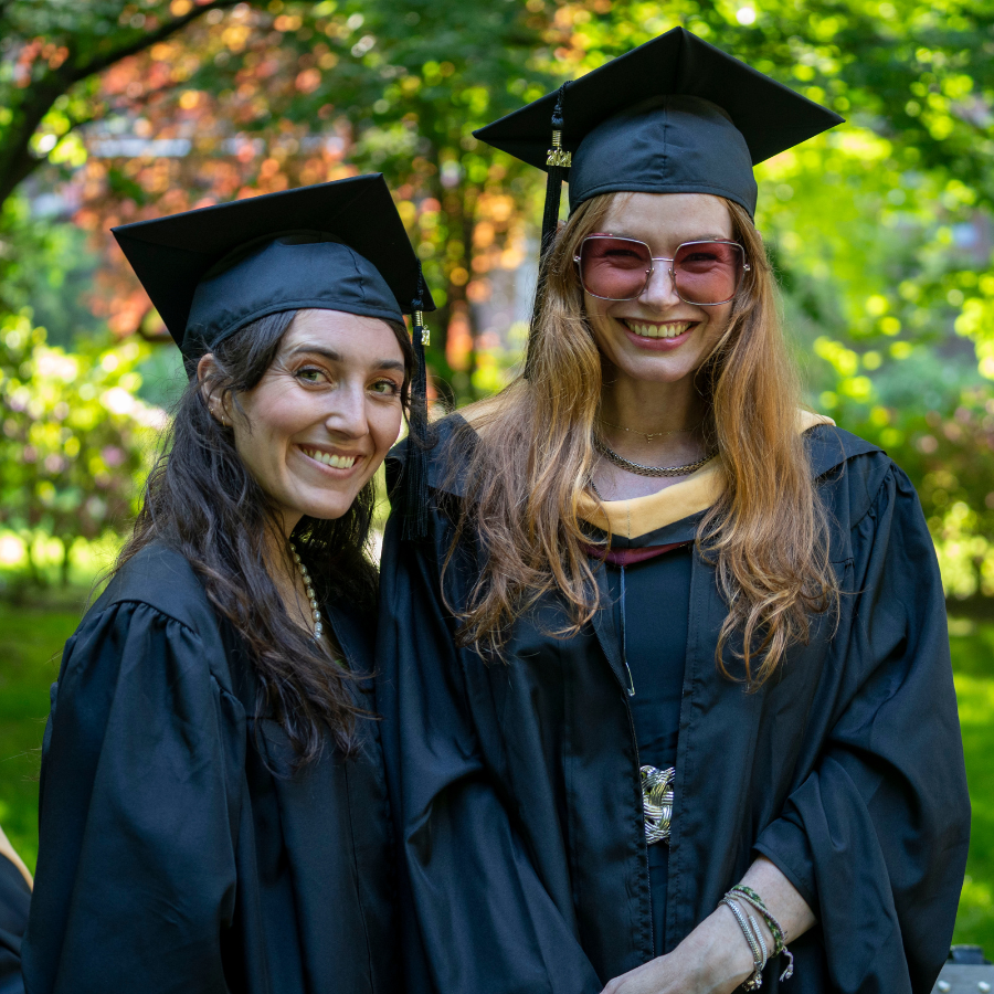
[[(684, 242), (734, 237), (728, 208), (709, 193), (620, 194), (602, 232), (645, 242), (653, 256), (669, 258)], [(732, 304), (687, 304), (674, 289), (669, 263), (653, 267), (634, 300), (602, 300), (584, 293), (584, 306), (602, 356), (622, 376), (675, 383), (705, 362), (728, 327)]]

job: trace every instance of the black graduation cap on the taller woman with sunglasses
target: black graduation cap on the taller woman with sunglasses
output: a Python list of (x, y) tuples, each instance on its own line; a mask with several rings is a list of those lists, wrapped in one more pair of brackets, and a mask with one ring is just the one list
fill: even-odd
[(752, 215), (752, 167), (842, 121), (674, 28), (474, 135), (548, 171), (544, 256), (563, 179), (570, 211), (599, 193), (634, 191), (713, 193)]

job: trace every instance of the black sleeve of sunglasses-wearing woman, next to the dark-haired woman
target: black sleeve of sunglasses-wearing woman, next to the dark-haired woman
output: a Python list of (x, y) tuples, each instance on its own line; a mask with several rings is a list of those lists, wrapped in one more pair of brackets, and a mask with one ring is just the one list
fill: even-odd
[(409, 991), (598, 994), (572, 908), (543, 886), (488, 772), (440, 595), (452, 532), (440, 512), (432, 520), (426, 541), (401, 542), (392, 516), (380, 579), (377, 700), (402, 849)]

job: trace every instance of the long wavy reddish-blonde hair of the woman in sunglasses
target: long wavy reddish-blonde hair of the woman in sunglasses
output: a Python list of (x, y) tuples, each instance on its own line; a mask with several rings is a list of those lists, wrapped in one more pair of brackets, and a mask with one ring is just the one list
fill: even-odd
[[(583, 306), (573, 257), (601, 230), (617, 193), (581, 204), (544, 266), (528, 378), (467, 408), (456, 438), (469, 452), (456, 541), (472, 528), (485, 565), (459, 611), (459, 641), (500, 657), (514, 620), (558, 593), (577, 633), (599, 609), (579, 515), (596, 459), (601, 356)], [(825, 512), (797, 431), (797, 377), (781, 335), (773, 274), (745, 211), (726, 200), (734, 239), (751, 269), (728, 327), (697, 372), (709, 409), (709, 442), (721, 455), (725, 487), (697, 533), (715, 563), (728, 615), (719, 636), (734, 645), (751, 689), (775, 672), (787, 646), (808, 638), (810, 618), (838, 598), (828, 562)], [(451, 554), (450, 554), (451, 559)], [(446, 562), (447, 565), (447, 562)]]

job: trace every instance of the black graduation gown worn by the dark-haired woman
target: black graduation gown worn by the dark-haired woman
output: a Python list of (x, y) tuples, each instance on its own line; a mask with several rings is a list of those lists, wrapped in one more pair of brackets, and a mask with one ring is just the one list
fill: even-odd
[[(370, 618), (325, 615), (371, 672)], [(254, 672), (150, 546), (66, 643), (45, 730), (29, 994), (395, 994), (378, 726), (290, 775)], [(372, 697), (367, 704), (371, 707)]]

